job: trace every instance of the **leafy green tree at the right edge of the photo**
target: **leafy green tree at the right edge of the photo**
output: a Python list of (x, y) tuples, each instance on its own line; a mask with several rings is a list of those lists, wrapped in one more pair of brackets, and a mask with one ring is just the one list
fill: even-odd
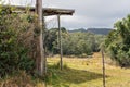
[(118, 21), (105, 40), (109, 55), (120, 66), (130, 66), (130, 15)]

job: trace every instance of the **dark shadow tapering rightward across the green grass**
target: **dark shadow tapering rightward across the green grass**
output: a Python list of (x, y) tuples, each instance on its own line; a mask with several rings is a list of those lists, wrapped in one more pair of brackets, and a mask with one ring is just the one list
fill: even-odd
[(67, 66), (65, 66), (63, 71), (54, 65), (49, 66), (49, 69), (55, 75), (55, 77), (51, 77), (51, 83), (49, 83), (50, 85), (53, 85), (53, 87), (69, 87), (70, 84), (81, 84), (103, 77), (102, 74), (95, 72), (75, 70)]

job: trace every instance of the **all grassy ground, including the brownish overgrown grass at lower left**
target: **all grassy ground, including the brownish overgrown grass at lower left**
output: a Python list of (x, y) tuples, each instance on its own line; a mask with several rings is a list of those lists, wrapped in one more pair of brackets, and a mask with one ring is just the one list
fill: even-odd
[[(63, 58), (64, 70), (58, 67), (60, 58), (48, 58), (46, 87), (103, 87), (102, 57)], [(105, 58), (106, 87), (130, 87), (130, 69), (121, 69)], [(25, 72), (0, 79), (0, 87), (44, 87), (42, 79), (32, 78)]]

